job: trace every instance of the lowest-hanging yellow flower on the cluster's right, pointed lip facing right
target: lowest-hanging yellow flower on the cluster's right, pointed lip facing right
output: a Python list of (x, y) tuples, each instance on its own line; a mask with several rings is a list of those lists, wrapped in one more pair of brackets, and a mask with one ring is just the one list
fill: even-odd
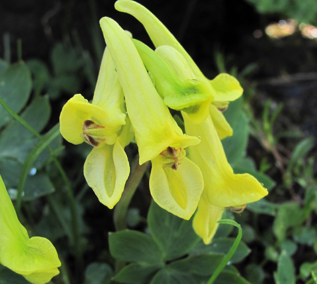
[(221, 218), (225, 208), (241, 212), (246, 203), (261, 199), (268, 191), (250, 174), (233, 172), (210, 116), (199, 126), (191, 123), (185, 113), (183, 118), (188, 133), (201, 135), (199, 147), (189, 149), (191, 160), (200, 167), (204, 177), (204, 191), (193, 227), (204, 242), (209, 243), (218, 226), (214, 221)]

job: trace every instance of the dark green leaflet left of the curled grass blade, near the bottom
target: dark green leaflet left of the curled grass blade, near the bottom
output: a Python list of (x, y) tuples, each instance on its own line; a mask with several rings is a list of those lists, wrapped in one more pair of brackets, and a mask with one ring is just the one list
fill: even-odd
[(210, 276), (215, 272), (224, 258), (224, 254), (190, 255), (184, 259), (171, 262), (168, 266), (172, 269), (190, 272), (200, 276)]

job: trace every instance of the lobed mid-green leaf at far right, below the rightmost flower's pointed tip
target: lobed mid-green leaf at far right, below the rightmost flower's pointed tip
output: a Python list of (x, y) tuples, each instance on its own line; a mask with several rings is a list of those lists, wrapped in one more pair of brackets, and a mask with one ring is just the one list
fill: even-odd
[(305, 220), (305, 213), (297, 203), (283, 203), (280, 205), (273, 223), (273, 232), (279, 241), (286, 238), (288, 228), (294, 228)]

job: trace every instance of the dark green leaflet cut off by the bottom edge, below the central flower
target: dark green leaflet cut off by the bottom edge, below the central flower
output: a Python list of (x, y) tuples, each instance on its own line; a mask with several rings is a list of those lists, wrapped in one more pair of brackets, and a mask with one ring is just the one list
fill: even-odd
[[(168, 267), (159, 270), (153, 277), (150, 284), (197, 284), (197, 279), (190, 273), (169, 269)], [(198, 282), (199, 283), (199, 282)]]

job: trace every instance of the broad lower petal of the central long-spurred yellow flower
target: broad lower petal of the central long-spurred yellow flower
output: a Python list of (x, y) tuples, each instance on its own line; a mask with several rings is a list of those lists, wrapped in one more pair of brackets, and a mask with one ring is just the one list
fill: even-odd
[(190, 219), (203, 188), (200, 169), (186, 157), (177, 171), (152, 163), (150, 191), (154, 201), (180, 218)]

